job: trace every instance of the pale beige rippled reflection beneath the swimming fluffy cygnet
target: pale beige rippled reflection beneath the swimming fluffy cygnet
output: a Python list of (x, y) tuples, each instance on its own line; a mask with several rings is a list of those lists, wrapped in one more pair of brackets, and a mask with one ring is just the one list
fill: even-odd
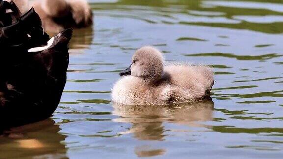
[[(114, 119), (115, 122), (132, 123), (132, 127), (128, 131), (120, 132), (120, 134), (133, 133), (133, 136), (138, 140), (162, 141), (165, 140), (163, 122), (189, 127), (210, 128), (210, 126), (201, 124), (201, 122), (213, 120), (213, 106), (211, 99), (196, 103), (165, 106), (126, 106), (113, 103), (113, 115), (120, 116), (120, 118)], [(165, 149), (154, 148), (149, 145), (135, 148), (138, 157), (157, 156), (165, 152)]]

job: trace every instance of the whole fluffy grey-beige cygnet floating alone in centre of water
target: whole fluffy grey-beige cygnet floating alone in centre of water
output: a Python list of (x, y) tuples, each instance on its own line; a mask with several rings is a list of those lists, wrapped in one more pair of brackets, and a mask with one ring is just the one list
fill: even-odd
[[(213, 70), (205, 65), (164, 64), (162, 53), (146, 46), (138, 49), (132, 64), (120, 73), (112, 100), (124, 105), (167, 105), (210, 98)], [(128, 76), (124, 76), (128, 75)]]

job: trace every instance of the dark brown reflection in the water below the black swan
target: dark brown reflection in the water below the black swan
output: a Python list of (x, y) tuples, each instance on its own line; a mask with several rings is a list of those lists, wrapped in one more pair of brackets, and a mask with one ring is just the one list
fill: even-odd
[(61, 142), (66, 136), (59, 134), (59, 125), (52, 119), (11, 128), (0, 136), (0, 159), (7, 158), (66, 158)]

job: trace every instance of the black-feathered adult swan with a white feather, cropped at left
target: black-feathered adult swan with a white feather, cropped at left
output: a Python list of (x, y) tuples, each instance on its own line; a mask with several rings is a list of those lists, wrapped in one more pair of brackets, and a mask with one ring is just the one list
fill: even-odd
[(0, 130), (46, 119), (66, 83), (72, 29), (50, 39), (34, 9), (0, 0)]

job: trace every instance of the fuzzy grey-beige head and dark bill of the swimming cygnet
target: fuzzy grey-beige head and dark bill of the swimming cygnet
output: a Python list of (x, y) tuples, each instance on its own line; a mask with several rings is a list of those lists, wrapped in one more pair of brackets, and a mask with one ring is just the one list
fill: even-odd
[(145, 46), (134, 53), (132, 64), (120, 72), (120, 76), (131, 75), (146, 80), (158, 80), (163, 73), (163, 62), (164, 58), (159, 50)]

